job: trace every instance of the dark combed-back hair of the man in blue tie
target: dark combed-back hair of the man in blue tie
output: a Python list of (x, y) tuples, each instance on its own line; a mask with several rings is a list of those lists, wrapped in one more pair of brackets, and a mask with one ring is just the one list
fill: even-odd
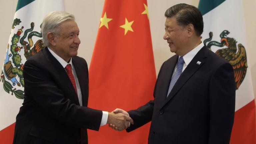
[(176, 4), (165, 11), (166, 18), (175, 17), (179, 26), (192, 24), (196, 34), (200, 36), (204, 30), (203, 16), (198, 8), (188, 4)]

